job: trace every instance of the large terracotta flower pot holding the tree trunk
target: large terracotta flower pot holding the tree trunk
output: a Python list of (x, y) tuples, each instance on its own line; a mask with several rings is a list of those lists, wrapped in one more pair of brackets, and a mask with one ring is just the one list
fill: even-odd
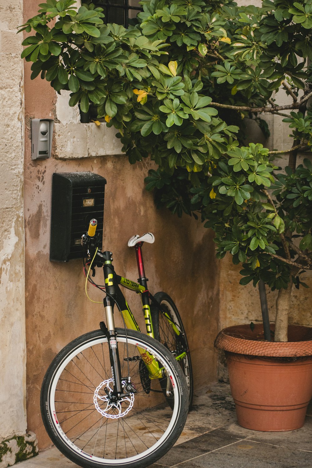
[[(272, 327), (274, 330), (274, 326)], [(312, 328), (290, 325), (289, 341), (263, 340), (262, 325), (228, 327), (224, 350), (238, 424), (256, 431), (299, 429), (312, 397)]]

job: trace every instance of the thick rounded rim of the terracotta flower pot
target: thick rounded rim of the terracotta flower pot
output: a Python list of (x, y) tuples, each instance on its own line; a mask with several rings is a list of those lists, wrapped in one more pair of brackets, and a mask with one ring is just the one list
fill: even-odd
[[(274, 324), (271, 324), (270, 328), (274, 330)], [(312, 356), (312, 328), (289, 325), (288, 330), (293, 338), (291, 341), (268, 342), (257, 339), (263, 334), (262, 324), (255, 324), (253, 332), (248, 324), (234, 325), (221, 330), (214, 345), (218, 350), (249, 356), (274, 358)]]

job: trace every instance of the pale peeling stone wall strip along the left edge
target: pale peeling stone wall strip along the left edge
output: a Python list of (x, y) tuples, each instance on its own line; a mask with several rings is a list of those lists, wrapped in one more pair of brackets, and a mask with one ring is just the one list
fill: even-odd
[(0, 440), (26, 432), (22, 0), (0, 0)]

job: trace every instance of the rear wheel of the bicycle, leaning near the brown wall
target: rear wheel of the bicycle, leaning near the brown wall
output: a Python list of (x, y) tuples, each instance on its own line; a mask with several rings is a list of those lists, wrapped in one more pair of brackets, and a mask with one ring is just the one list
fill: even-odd
[[(154, 298), (160, 304), (161, 308), (167, 312), (172, 322), (174, 322), (177, 329), (182, 334), (183, 340), (179, 341), (179, 338), (174, 332), (173, 327), (170, 325), (170, 322), (167, 320), (164, 314), (160, 313), (160, 310), (155, 305), (151, 306), (152, 314), (152, 323), (154, 329), (155, 338), (163, 344), (168, 351), (171, 352), (173, 356), (179, 356), (183, 351), (186, 352), (184, 358), (179, 360), (181, 369), (185, 375), (187, 385), (189, 388), (189, 409), (193, 403), (193, 393), (194, 393), (194, 383), (193, 383), (193, 372), (192, 372), (192, 363), (189, 352), (189, 345), (183, 326), (181, 316), (179, 314), (178, 308), (174, 304), (174, 301), (166, 292), (156, 292)], [(166, 395), (167, 382), (165, 380), (160, 381), (161, 388), (163, 389), (164, 394)], [(166, 397), (167, 402), (172, 407), (173, 402), (172, 398)]]

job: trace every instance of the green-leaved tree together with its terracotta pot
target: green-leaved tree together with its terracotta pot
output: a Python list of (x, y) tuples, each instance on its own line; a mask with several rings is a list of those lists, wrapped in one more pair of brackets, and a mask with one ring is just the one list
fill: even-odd
[[(47, 0), (21, 28), (35, 33), (24, 40), (22, 56), (33, 62), (33, 78), (41, 73), (58, 92), (72, 92), (70, 105), (79, 103), (84, 113), (90, 103), (97, 106), (98, 117), (119, 131), (131, 163), (155, 161), (158, 168), (150, 171), (146, 189), (155, 189), (159, 206), (200, 217), (214, 230), (218, 258), (230, 252), (234, 263), (242, 263), (240, 284), (261, 281), (278, 290), (275, 325), (270, 331), (267, 324), (265, 338), (258, 326), (253, 331), (245, 326), (223, 332), (216, 345), (239, 356), (249, 347), (255, 356), (264, 344), (260, 356), (275, 358), (275, 376), (285, 364), (281, 359), (294, 360), (283, 367), (299, 362), (305, 395), (290, 403), (289, 413), (298, 410), (300, 422), (287, 425), (282, 417), (272, 430), (299, 427), (312, 395), (311, 334), (297, 328), (288, 336), (288, 311), (292, 287), (306, 286), (302, 274), (312, 265), (312, 164), (308, 157), (297, 163), (301, 154), (310, 154), (312, 143), (311, 1), (263, 0), (261, 8), (228, 0), (140, 3), (143, 11), (125, 29), (105, 25), (102, 9), (89, 1), (77, 9), (74, 0)], [(282, 92), (287, 99), (279, 105)], [(247, 120), (268, 136), (265, 115), (289, 124), (288, 149), (246, 143)], [(268, 341), (271, 332), (274, 342)], [(234, 351), (238, 336), (247, 349)], [(305, 360), (297, 351), (301, 345), (289, 351), (290, 342), (300, 340)], [(252, 361), (242, 359), (229, 355), (230, 371), (236, 360), (246, 373)], [(255, 413), (268, 414), (263, 398), (281, 394), (268, 392), (281, 377), (269, 380), (267, 364), (257, 366), (256, 388), (259, 375), (269, 382), (262, 408), (255, 410), (254, 400), (244, 402), (249, 416), (240, 424), (268, 430), (267, 421), (253, 426), (249, 421)], [(249, 397), (249, 384), (234, 395), (238, 407), (242, 394)], [(269, 421), (289, 406), (287, 398), (268, 404), (278, 406)]]

